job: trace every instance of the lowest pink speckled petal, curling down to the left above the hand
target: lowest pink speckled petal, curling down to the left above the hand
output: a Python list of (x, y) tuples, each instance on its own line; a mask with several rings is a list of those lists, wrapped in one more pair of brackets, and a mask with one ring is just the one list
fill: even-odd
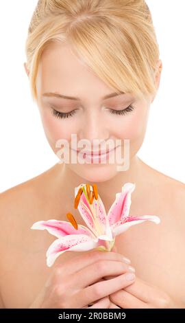
[(67, 251), (84, 252), (97, 247), (98, 239), (93, 240), (86, 234), (71, 234), (58, 238), (47, 249), (47, 266), (51, 267), (56, 258)]

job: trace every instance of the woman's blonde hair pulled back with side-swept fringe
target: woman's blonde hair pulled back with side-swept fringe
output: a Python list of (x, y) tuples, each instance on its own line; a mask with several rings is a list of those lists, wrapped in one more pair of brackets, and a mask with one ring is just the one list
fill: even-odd
[(45, 47), (68, 43), (106, 85), (138, 98), (155, 94), (159, 48), (145, 0), (39, 0), (27, 34), (32, 97)]

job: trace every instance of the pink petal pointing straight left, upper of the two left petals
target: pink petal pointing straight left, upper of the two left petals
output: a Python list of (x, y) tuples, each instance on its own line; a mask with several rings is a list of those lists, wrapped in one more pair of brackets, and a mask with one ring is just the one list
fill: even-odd
[(35, 222), (31, 229), (47, 230), (50, 234), (53, 234), (53, 236), (56, 236), (57, 238), (61, 238), (62, 236), (69, 234), (86, 234), (94, 237), (93, 232), (90, 232), (88, 227), (84, 227), (84, 225), (78, 225), (78, 230), (76, 230), (70, 222), (53, 219)]

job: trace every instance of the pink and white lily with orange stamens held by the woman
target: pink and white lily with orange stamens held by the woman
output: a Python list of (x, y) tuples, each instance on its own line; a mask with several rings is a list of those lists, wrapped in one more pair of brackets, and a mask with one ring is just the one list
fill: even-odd
[(131, 194), (135, 187), (135, 183), (125, 183), (122, 191), (116, 193), (116, 199), (106, 214), (97, 192), (97, 185), (90, 186), (88, 183), (82, 183), (75, 188), (74, 208), (79, 210), (86, 226), (78, 225), (71, 213), (66, 214), (69, 221), (51, 219), (34, 223), (31, 229), (47, 230), (58, 238), (47, 249), (47, 266), (51, 267), (56, 258), (66, 251), (83, 252), (96, 248), (110, 252), (114, 246), (115, 237), (132, 225), (144, 221), (160, 223), (158, 216), (129, 215)]

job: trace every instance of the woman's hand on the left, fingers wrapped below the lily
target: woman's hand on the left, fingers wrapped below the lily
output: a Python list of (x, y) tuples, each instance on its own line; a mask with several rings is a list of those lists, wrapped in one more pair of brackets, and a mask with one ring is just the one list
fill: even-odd
[[(108, 296), (132, 284), (126, 279), (127, 271), (129, 265), (115, 252), (93, 250), (64, 260), (53, 267), (29, 309), (86, 309), (93, 302), (91, 308), (108, 309)], [(102, 280), (107, 276), (114, 278)]]

